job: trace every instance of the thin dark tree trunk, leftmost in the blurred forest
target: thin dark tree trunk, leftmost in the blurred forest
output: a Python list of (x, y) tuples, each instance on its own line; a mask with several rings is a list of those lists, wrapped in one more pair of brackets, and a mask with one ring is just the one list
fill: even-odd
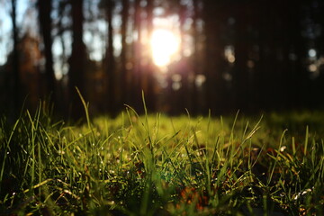
[(14, 93), (14, 114), (18, 114), (19, 110), (22, 106), (22, 93), (21, 93), (21, 79), (20, 79), (20, 60), (19, 60), (19, 50), (18, 50), (18, 30), (17, 30), (17, 23), (16, 23), (16, 6), (17, 1), (12, 0), (12, 23), (13, 23), (13, 39), (14, 39), (14, 49), (13, 49), (13, 77), (14, 77), (14, 84), (13, 84), (13, 93)]

